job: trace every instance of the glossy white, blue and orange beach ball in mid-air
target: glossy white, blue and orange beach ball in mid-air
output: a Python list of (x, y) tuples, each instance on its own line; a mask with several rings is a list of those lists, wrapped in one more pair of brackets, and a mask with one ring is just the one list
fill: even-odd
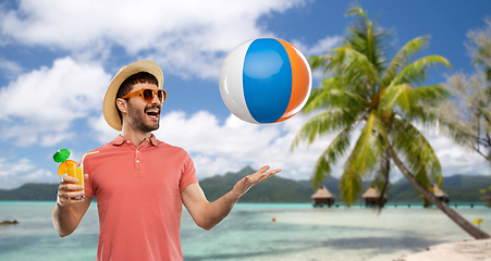
[(268, 124), (299, 112), (310, 95), (311, 82), (307, 59), (295, 46), (275, 38), (257, 38), (226, 55), (219, 87), (235, 116)]

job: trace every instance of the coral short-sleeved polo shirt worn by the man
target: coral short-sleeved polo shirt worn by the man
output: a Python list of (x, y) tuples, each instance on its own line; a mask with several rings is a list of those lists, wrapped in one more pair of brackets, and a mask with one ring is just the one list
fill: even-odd
[(84, 171), (99, 212), (97, 260), (183, 260), (181, 191), (198, 182), (187, 152), (154, 135), (138, 147), (120, 135), (96, 150)]

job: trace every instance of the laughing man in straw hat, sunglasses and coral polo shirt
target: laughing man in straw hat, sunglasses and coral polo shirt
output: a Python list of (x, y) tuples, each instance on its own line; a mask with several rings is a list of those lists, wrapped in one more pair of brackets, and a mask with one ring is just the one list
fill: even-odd
[(75, 231), (91, 198), (97, 198), (97, 260), (183, 260), (179, 235), (183, 203), (198, 226), (210, 229), (250, 187), (280, 172), (263, 166), (209, 202), (187, 152), (151, 134), (159, 128), (167, 98), (155, 62), (121, 69), (103, 101), (106, 121), (121, 135), (85, 158), (85, 191), (72, 184), (74, 177), (60, 182), (52, 221), (62, 237)]

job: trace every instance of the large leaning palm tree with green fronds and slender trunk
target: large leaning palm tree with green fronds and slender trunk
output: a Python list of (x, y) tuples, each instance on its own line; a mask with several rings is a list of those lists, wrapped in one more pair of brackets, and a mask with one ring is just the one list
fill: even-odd
[[(359, 7), (347, 15), (356, 16), (345, 41), (331, 53), (311, 57), (312, 70), (330, 75), (322, 88), (312, 90), (303, 113), (321, 111), (298, 132), (292, 150), (300, 141), (314, 142), (319, 136), (336, 134), (317, 160), (311, 175), (318, 187), (352, 147), (352, 137), (361, 127), (358, 139), (344, 163), (340, 191), (348, 204), (360, 195), (364, 178), (372, 178), (382, 191), (389, 184), (391, 161), (429, 202), (475, 238), (490, 236), (441, 202), (432, 192), (430, 179), (441, 184), (440, 162), (425, 136), (414, 123), (435, 126), (438, 117), (429, 112), (449, 92), (442, 85), (420, 86), (430, 67), (451, 64), (442, 57), (428, 55), (413, 61), (428, 44), (428, 37), (407, 42), (389, 61), (390, 32), (376, 26)], [(403, 159), (401, 159), (403, 157)]]

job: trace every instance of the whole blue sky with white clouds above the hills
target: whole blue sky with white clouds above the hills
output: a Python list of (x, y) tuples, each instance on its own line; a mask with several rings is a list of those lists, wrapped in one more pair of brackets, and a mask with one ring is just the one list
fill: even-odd
[[(61, 148), (72, 159), (112, 140), (102, 119), (102, 98), (123, 65), (142, 59), (160, 64), (164, 88), (157, 137), (186, 149), (199, 178), (269, 164), (282, 176), (307, 179), (330, 137), (289, 151), (308, 115), (253, 125), (231, 115), (218, 77), (225, 55), (257, 37), (278, 37), (306, 55), (339, 45), (352, 18), (353, 1), (63, 1), (0, 3), (0, 188), (28, 182), (57, 183)], [(394, 33), (394, 51), (428, 35), (420, 54), (446, 58), (454, 70), (431, 71), (427, 84), (445, 75), (472, 73), (466, 35), (483, 28), (491, 2), (480, 0), (365, 1), (369, 17)], [(319, 83), (314, 73), (314, 87)], [(490, 175), (483, 160), (429, 133), (445, 176)], [(341, 167), (341, 166), (340, 166)], [(334, 176), (340, 175), (340, 167)], [(398, 174), (395, 173), (394, 178)]]

